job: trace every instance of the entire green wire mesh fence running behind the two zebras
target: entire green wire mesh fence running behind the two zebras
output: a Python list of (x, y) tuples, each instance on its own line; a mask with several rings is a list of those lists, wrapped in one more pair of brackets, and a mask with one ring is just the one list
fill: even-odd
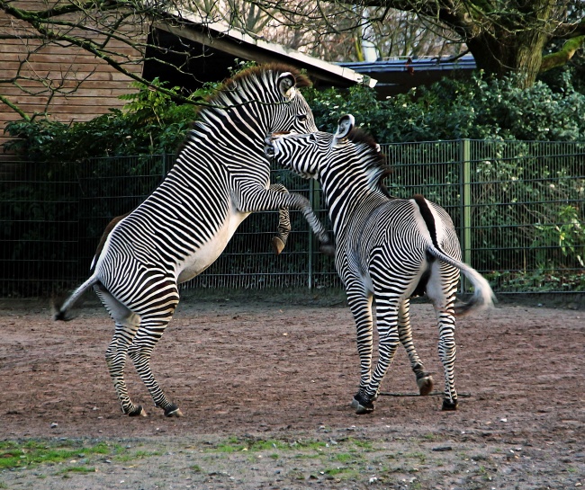
[[(447, 209), (464, 260), (500, 292), (585, 291), (585, 143), (456, 140), (384, 145), (388, 187)], [(0, 296), (39, 297), (87, 276), (103, 228), (136, 207), (173, 156), (0, 168)], [(319, 186), (275, 169), (328, 221)], [(187, 288), (340, 287), (333, 261), (299, 212), (283, 254), (272, 253), (277, 212), (242, 223), (220, 258)]]

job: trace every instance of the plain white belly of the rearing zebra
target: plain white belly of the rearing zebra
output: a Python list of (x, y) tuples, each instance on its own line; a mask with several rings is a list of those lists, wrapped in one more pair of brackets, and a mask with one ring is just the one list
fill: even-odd
[(231, 209), (229, 216), (211, 240), (206, 242), (195, 252), (186, 257), (182, 263), (177, 264), (178, 283), (189, 281), (201, 274), (211, 263), (214, 263), (221, 252), (228, 245), (229, 240), (238, 229), (239, 224), (248, 217), (250, 213), (242, 213)]

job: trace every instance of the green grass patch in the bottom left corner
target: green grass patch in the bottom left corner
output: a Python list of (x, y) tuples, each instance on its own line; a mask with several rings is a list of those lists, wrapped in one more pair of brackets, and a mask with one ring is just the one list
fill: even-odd
[(81, 441), (1, 441), (0, 469), (23, 468), (42, 463), (62, 463), (88, 454), (109, 454), (103, 442), (86, 445)]

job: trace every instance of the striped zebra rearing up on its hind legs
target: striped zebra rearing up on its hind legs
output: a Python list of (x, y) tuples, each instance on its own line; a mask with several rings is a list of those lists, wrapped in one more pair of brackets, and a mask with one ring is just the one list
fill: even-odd
[[(230, 79), (199, 112), (173, 169), (137, 209), (113, 223), (94, 256), (91, 276), (58, 308), (56, 319), (94, 287), (115, 322), (106, 361), (121, 411), (145, 415), (124, 380), (130, 356), (166, 416), (181, 411), (158, 386), (150, 356), (179, 302), (177, 284), (203, 272), (254, 211), (301, 209), (320, 241), (329, 237), (308, 200), (270, 186), (267, 133), (317, 130), (297, 87), (309, 85), (290, 67), (249, 68)], [(282, 224), (282, 223), (281, 223)]]

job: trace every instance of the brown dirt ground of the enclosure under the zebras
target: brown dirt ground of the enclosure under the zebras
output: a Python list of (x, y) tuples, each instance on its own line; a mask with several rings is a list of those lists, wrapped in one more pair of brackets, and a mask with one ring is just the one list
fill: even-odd
[[(585, 485), (582, 309), (506, 302), (461, 319), (457, 412), (441, 412), (438, 394), (415, 396), (399, 349), (374, 413), (356, 415), (349, 403), (359, 362), (343, 297), (185, 296), (152, 361), (180, 419), (152, 406), (130, 365), (130, 396), (148, 417), (121, 415), (104, 361), (112, 322), (93, 300), (68, 323), (53, 322), (40, 301), (0, 304), (0, 441), (80, 439), (151, 450), (131, 464), (94, 459), (94, 473), (67, 477), (42, 465), (0, 472), (0, 488)], [(412, 323), (442, 391), (432, 307), (413, 305)], [(244, 441), (250, 450), (222, 452), (222, 441)], [(250, 441), (292, 449), (273, 442), (272, 452), (253, 452)], [(298, 441), (324, 445), (311, 456), (295, 450)]]

